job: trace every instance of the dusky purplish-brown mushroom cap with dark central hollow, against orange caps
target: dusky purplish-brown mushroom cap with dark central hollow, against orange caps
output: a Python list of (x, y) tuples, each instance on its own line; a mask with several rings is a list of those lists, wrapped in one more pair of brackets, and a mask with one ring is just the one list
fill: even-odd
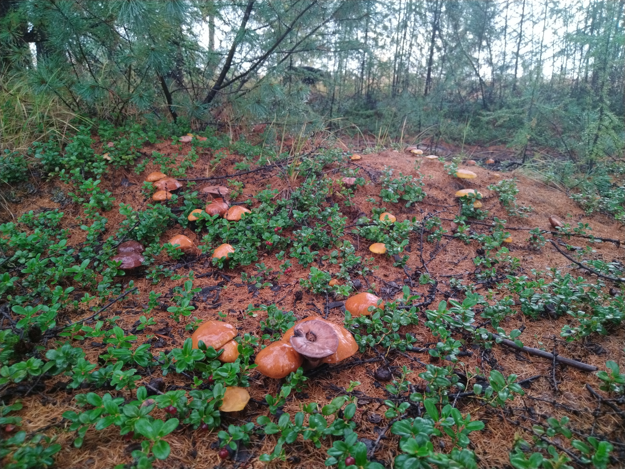
[(312, 359), (332, 355), (339, 346), (339, 338), (334, 328), (319, 320), (306, 321), (294, 326), (293, 336), (289, 342), (297, 353)]

